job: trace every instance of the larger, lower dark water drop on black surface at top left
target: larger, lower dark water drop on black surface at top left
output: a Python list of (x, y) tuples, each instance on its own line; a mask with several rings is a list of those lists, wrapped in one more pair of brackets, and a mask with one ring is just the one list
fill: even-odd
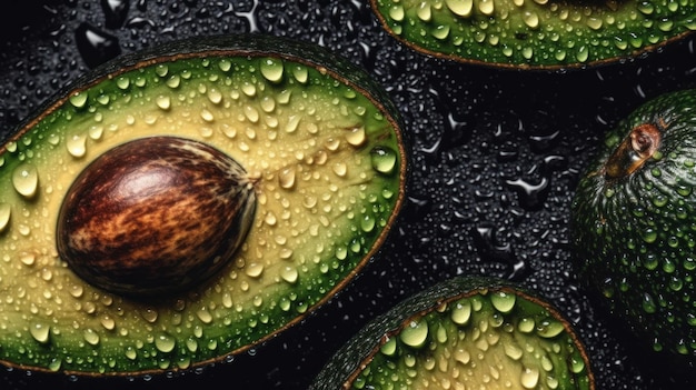
[(95, 68), (121, 53), (118, 38), (88, 23), (81, 23), (74, 31), (74, 39), (84, 63)]

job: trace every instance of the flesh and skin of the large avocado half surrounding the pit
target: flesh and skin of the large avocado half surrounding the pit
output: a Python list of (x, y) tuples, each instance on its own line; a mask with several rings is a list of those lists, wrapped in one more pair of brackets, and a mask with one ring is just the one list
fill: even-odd
[[(54, 248), (50, 210), (66, 177), (133, 134), (196, 139), (258, 180), (238, 254), (209, 282), (157, 301), (82, 282)], [(201, 37), (99, 67), (0, 148), (0, 364), (133, 377), (259, 347), (375, 258), (404, 202), (405, 141), (387, 92), (308, 42)]]

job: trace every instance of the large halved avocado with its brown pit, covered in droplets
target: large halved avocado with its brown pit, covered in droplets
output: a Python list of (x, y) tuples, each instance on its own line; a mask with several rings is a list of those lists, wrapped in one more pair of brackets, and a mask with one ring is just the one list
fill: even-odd
[(290, 39), (96, 69), (0, 148), (0, 364), (132, 377), (261, 346), (377, 254), (401, 129), (365, 71)]

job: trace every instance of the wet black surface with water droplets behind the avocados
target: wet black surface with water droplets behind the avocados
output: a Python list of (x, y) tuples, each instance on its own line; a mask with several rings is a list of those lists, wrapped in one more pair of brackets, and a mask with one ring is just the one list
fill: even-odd
[[(577, 327), (598, 389), (688, 389), (683, 370), (634, 350), (578, 286), (569, 201), (605, 130), (662, 92), (696, 86), (694, 37), (644, 58), (556, 72), (437, 60), (400, 46), (366, 1), (30, 0), (0, 13), (0, 132), (119, 53), (190, 36), (259, 32), (325, 46), (362, 66), (401, 110), (412, 141), (411, 186), (375, 261), (304, 323), (198, 371), (72, 380), (0, 369), (2, 389), (118, 387), (305, 389), (361, 326), (406, 296), (455, 274), (537, 289)], [(665, 359), (659, 359), (665, 361)], [(260, 373), (255, 373), (260, 372)]]

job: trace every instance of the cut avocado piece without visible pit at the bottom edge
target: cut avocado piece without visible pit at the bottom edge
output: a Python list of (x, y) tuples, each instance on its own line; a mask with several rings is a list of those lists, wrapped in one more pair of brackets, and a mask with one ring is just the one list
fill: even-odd
[(310, 387), (424, 388), (591, 390), (595, 378), (583, 342), (549, 302), (508, 280), (463, 276), (375, 318)]

